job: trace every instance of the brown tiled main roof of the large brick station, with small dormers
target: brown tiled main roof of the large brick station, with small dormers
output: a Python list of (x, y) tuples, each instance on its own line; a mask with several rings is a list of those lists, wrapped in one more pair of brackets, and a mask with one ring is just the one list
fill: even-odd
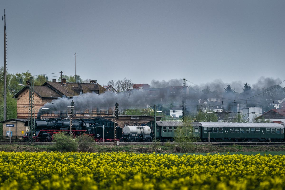
[[(81, 87), (80, 87), (80, 85)], [(54, 89), (55, 91), (57, 91), (59, 94), (61, 95), (66, 95), (67, 97), (73, 97), (73, 96), (77, 96), (79, 95), (79, 89), (81, 88), (83, 93), (92, 93), (92, 90), (95, 90), (94, 87), (96, 89), (99, 90), (99, 94), (103, 93), (106, 91), (106, 89), (104, 87), (102, 87), (101, 85), (99, 85), (98, 83), (71, 83), (71, 82), (67, 82), (66, 85), (62, 85), (61, 82), (46, 82), (43, 84), (43, 86), (50, 86), (52, 89)], [(80, 89), (80, 90), (81, 90)]]

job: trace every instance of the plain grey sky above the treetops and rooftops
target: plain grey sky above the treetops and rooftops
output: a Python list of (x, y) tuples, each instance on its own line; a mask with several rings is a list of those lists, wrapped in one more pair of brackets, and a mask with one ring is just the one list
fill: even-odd
[[(260, 0), (2, 0), (7, 69), (74, 75), (77, 52), (76, 74), (101, 85), (124, 78), (148, 84), (181, 78), (196, 84), (215, 79), (254, 84), (261, 76), (283, 81), (284, 5)], [(3, 36), (4, 21), (1, 26)]]

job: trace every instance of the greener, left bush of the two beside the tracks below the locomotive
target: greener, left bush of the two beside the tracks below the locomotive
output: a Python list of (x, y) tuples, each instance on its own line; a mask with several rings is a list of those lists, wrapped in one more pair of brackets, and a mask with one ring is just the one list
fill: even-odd
[(58, 152), (77, 151), (78, 144), (69, 135), (56, 133), (53, 136), (54, 147)]

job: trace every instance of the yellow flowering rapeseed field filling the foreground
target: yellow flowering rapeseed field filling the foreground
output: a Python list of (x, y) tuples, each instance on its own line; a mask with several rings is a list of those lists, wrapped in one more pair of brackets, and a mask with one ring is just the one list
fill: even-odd
[(0, 152), (0, 189), (285, 189), (285, 156)]

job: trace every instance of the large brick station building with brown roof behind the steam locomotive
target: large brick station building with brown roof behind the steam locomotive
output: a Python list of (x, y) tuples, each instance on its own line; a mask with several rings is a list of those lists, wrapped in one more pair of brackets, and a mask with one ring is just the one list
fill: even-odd
[[(52, 82), (47, 81), (41, 86), (34, 86), (34, 111), (35, 115), (38, 113), (40, 108), (54, 99), (61, 97), (72, 98), (83, 93), (101, 94), (104, 93), (106, 89), (99, 85), (96, 80), (90, 80), (90, 83), (73, 83), (66, 82), (65, 78), (62, 82), (56, 82), (56, 79), (52, 79)], [(29, 115), (29, 89), (24, 87), (21, 89), (14, 98), (17, 99), (17, 118), (27, 119)], [(71, 100), (70, 100), (71, 102)], [(104, 107), (104, 109), (106, 109)], [(110, 116), (111, 113), (106, 111), (101, 111), (101, 109), (86, 110), (83, 113), (78, 113), (78, 117), (84, 117), (84, 115), (89, 115), (92, 117), (97, 116)], [(62, 115), (50, 113), (44, 114), (42, 117), (61, 117)], [(66, 117), (66, 115), (62, 116)]]

